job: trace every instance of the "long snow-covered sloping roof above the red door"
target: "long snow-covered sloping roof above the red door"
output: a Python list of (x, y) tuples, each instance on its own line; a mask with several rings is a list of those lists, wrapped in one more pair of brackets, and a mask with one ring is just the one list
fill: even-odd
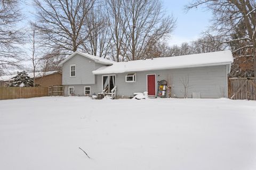
[(116, 62), (111, 66), (103, 66), (93, 71), (93, 74), (111, 74), (138, 72), (147, 70), (179, 69), (186, 67), (199, 67), (211, 65), (230, 65), (233, 63), (233, 55), (230, 50), (220, 52), (192, 54), (175, 57), (161, 57), (153, 60), (136, 60), (129, 62)]

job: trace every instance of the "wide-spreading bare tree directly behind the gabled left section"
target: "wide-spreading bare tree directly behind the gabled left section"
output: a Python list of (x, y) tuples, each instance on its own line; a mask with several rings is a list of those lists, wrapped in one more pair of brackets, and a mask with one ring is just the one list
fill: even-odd
[(36, 28), (43, 44), (62, 53), (75, 52), (88, 40), (85, 19), (94, 0), (33, 0), (37, 10)]

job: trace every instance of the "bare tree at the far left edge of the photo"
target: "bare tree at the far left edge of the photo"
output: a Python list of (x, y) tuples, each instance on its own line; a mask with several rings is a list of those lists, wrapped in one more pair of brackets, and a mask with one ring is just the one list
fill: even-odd
[(16, 25), (22, 20), (19, 5), (17, 0), (0, 0), (0, 74), (10, 67), (21, 67), (19, 45), (25, 33)]

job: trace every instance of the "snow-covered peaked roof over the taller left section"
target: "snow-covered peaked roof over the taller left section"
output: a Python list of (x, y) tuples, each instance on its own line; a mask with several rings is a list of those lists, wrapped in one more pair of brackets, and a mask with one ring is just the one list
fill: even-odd
[(72, 58), (73, 56), (75, 56), (76, 54), (80, 54), (86, 58), (90, 58), (91, 60), (93, 60), (95, 63), (100, 63), (100, 64), (105, 64), (105, 65), (112, 65), (116, 62), (108, 60), (106, 58), (101, 58), (101, 57), (97, 57), (88, 53), (83, 53), (83, 52), (74, 52), (73, 54), (71, 54), (70, 56), (68, 56), (65, 60), (63, 60), (59, 65), (62, 66), (63, 63), (65, 63), (66, 61), (68, 61), (70, 58)]

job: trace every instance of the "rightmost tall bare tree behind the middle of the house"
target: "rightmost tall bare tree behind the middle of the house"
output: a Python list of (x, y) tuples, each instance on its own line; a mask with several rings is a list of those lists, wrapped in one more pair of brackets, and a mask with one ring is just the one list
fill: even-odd
[(155, 44), (174, 29), (175, 19), (166, 15), (161, 1), (122, 1), (126, 24), (125, 39), (128, 42), (125, 55), (129, 60), (150, 56)]

